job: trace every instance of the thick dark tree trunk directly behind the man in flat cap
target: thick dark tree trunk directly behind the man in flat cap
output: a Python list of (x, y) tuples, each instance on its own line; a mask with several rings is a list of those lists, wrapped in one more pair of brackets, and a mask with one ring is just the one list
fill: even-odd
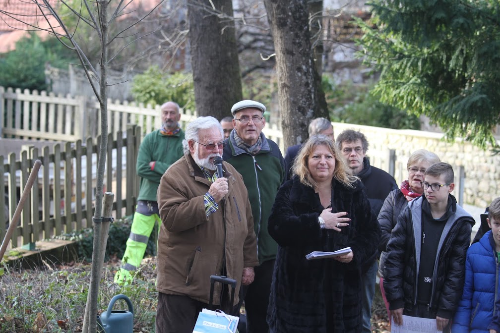
[(242, 99), (232, 2), (188, 3), (196, 109), (200, 116), (221, 119), (231, 115), (231, 106)]

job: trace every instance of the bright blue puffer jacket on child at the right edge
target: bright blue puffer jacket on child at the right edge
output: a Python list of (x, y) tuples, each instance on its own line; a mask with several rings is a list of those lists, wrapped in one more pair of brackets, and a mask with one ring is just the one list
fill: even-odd
[(498, 263), (491, 231), (472, 244), (465, 261), (465, 285), (451, 326), (452, 333), (487, 333), (493, 317)]

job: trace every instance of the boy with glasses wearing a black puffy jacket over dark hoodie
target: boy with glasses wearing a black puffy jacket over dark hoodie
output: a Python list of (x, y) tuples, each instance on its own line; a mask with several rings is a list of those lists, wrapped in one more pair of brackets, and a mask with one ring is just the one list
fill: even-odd
[(475, 223), (450, 194), (453, 177), (448, 163), (429, 166), (421, 182), (424, 195), (408, 203), (392, 231), (383, 287), (396, 325), (403, 315), (435, 318), (437, 331), (450, 332)]

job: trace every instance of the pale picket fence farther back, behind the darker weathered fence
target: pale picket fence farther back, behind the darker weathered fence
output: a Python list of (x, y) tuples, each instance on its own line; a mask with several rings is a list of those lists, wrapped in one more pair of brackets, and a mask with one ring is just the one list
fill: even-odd
[[(4, 138), (75, 142), (101, 134), (100, 105), (95, 98), (0, 86), (0, 115), (0, 137)], [(196, 117), (194, 111), (181, 110), (181, 126)], [(113, 133), (114, 139), (129, 124), (140, 126), (144, 136), (161, 126), (160, 105), (108, 100), (107, 124), (107, 133)]]

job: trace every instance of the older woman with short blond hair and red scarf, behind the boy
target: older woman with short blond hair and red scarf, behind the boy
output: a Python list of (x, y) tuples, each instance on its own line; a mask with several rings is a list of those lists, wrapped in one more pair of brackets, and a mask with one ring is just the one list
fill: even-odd
[[(383, 265), (386, 257), (385, 248), (390, 239), (392, 229), (394, 229), (397, 217), (403, 211), (404, 207), (413, 200), (423, 194), (423, 187), (420, 184), (424, 180), (425, 170), (434, 163), (440, 162), (439, 157), (425, 149), (419, 149), (413, 152), (407, 162), (408, 179), (401, 183), (401, 186), (389, 193), (385, 199), (380, 213), (378, 214), (378, 223), (382, 231), (382, 237), (378, 245), (380, 254), (380, 262), (378, 265), (378, 274), (380, 276), (380, 290), (382, 298), (389, 314), (389, 305), (385, 299), (385, 292), (383, 290)], [(389, 315), (390, 318), (390, 315)]]

